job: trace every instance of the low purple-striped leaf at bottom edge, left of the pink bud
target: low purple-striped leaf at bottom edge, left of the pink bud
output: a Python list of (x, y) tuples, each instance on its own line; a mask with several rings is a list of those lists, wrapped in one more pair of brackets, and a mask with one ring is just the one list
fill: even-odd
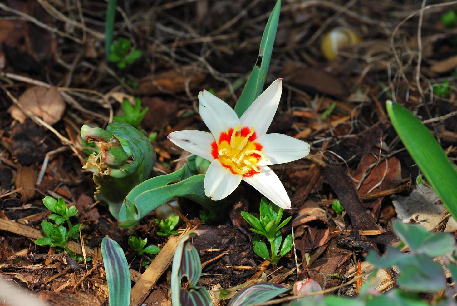
[(286, 293), (290, 288), (281, 284), (271, 283), (258, 283), (252, 286), (246, 287), (239, 292), (230, 300), (228, 306), (247, 306), (251, 304), (262, 303), (270, 301), (272, 298)]

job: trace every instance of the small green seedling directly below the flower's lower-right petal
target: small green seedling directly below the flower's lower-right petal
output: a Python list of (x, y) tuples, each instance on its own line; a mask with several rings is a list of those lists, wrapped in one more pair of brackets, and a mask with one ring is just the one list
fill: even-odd
[[(266, 236), (268, 242), (270, 242), (270, 253), (266, 247), (266, 243), (263, 242), (260, 237), (254, 237), (254, 252), (261, 258), (267, 259), (272, 264), (278, 263), (279, 259), (286, 255), (292, 249), (292, 234), (288, 235), (282, 243), (281, 251), (279, 247), (282, 242), (281, 229), (286, 225), (292, 216), (281, 222), (282, 213), (284, 209), (276, 206), (273, 203), (268, 204), (266, 198), (262, 198), (260, 202), (260, 220), (248, 212), (242, 211), (241, 215), (244, 220), (248, 222), (253, 228), (250, 231), (256, 234)], [(278, 225), (279, 224), (279, 225)], [(278, 253), (279, 252), (279, 253)]]

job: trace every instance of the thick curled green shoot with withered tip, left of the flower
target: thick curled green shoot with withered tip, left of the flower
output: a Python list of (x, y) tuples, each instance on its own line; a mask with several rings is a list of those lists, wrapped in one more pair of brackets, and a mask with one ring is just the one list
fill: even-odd
[(100, 149), (83, 168), (94, 172), (96, 199), (108, 203), (118, 219), (123, 199), (149, 177), (156, 159), (154, 148), (146, 136), (125, 122), (108, 124), (106, 130), (83, 125), (81, 137)]

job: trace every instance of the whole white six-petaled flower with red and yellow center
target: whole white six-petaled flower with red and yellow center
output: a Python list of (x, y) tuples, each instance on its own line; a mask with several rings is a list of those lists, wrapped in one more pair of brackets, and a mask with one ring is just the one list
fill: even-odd
[(204, 182), (207, 197), (223, 199), (244, 180), (279, 207), (291, 207), (286, 189), (268, 165), (303, 158), (309, 145), (284, 134), (266, 134), (281, 92), (278, 79), (238, 118), (227, 103), (203, 90), (198, 110), (211, 133), (184, 130), (168, 135), (175, 145), (212, 161)]

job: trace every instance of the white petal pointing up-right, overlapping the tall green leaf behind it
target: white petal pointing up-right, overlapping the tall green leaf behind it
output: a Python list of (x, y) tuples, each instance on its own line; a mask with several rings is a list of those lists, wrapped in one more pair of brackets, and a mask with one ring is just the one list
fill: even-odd
[(282, 93), (282, 79), (277, 79), (260, 94), (239, 118), (241, 124), (254, 127), (257, 137), (265, 135), (275, 116)]

